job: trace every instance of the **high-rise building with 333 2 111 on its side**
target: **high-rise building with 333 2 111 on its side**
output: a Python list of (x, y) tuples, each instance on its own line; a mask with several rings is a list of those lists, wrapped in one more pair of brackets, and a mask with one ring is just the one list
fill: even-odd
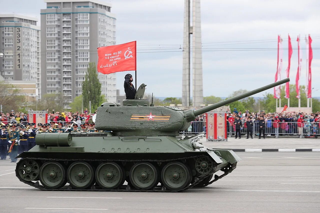
[(0, 60), (1, 76), (7, 81), (36, 82), (36, 92), (29, 93), (36, 99), (41, 95), (40, 27), (36, 26), (37, 21), (34, 17), (0, 14), (0, 52), (4, 53)]

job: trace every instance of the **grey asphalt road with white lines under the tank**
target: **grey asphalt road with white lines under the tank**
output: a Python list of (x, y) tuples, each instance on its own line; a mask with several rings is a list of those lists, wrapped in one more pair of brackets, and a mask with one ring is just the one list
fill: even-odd
[(237, 153), (226, 177), (182, 193), (49, 192), (0, 161), (0, 212), (319, 212), (320, 153)]

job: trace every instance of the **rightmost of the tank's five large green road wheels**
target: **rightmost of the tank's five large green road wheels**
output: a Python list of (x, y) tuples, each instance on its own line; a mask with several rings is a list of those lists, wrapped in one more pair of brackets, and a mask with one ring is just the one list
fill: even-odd
[(169, 190), (180, 190), (191, 182), (190, 169), (181, 162), (170, 162), (164, 166), (161, 172), (163, 185)]

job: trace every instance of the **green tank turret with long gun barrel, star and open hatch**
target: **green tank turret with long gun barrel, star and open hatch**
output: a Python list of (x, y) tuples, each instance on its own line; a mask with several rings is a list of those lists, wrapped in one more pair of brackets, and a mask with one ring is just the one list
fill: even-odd
[(178, 136), (200, 114), (289, 81), (286, 78), (210, 106), (186, 111), (173, 106), (150, 106), (149, 100), (143, 99), (146, 85), (141, 84), (136, 99), (124, 100), (123, 106), (106, 102), (98, 107), (95, 128), (112, 131), (114, 136)]

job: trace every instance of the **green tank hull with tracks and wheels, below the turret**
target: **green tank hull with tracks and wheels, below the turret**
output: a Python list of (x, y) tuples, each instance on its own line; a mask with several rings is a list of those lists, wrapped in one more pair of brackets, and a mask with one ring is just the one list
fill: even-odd
[[(22, 159), (17, 163), (16, 176), (41, 190), (181, 192), (211, 184), (241, 161), (232, 150), (203, 146), (197, 142), (199, 137), (77, 133), (72, 134), (72, 143), (60, 141), (52, 146), (52, 141), (42, 140), (37, 142), (42, 145), (18, 156)], [(224, 174), (215, 175), (211, 181), (220, 170)], [(85, 179), (90, 180), (87, 185)], [(65, 186), (67, 182), (69, 186)]]

